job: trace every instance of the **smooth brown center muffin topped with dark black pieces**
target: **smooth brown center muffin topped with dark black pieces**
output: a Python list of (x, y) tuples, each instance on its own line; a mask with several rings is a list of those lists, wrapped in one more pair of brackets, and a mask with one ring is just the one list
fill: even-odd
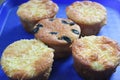
[(39, 21), (32, 33), (36, 39), (43, 41), (55, 49), (55, 58), (67, 57), (71, 54), (70, 45), (79, 38), (80, 27), (69, 19), (50, 18)]

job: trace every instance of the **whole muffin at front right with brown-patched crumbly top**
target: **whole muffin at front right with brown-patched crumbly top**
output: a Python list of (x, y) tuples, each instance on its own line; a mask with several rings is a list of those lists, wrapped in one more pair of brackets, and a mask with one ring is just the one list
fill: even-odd
[(85, 80), (109, 80), (120, 63), (120, 46), (105, 36), (86, 36), (72, 44), (74, 67)]

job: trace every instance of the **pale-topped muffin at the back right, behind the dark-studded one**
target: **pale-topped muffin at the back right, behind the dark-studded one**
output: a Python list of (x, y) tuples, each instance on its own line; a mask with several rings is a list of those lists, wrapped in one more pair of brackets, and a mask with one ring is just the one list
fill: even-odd
[(66, 14), (80, 25), (82, 36), (96, 35), (106, 24), (106, 9), (97, 2), (76, 1), (66, 8)]

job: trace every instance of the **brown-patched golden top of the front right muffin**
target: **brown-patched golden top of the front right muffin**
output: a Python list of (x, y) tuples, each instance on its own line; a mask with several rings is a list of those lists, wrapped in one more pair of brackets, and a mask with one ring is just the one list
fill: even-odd
[(105, 70), (120, 63), (120, 47), (104, 36), (86, 36), (72, 44), (73, 55), (94, 70)]

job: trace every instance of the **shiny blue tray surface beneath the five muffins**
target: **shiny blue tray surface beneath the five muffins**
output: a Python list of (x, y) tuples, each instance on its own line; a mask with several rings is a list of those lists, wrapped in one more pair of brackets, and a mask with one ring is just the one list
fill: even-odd
[[(12, 42), (20, 39), (31, 39), (33, 35), (28, 34), (16, 14), (18, 6), (28, 0), (6, 0), (0, 6), (0, 56), (3, 50)], [(67, 18), (66, 6), (76, 0), (53, 0), (59, 6), (57, 17)], [(93, 0), (101, 3), (107, 9), (107, 25), (105, 25), (98, 35), (107, 36), (120, 43), (120, 0)], [(0, 66), (0, 80), (8, 80)], [(57, 60), (53, 64), (49, 80), (83, 80), (78, 76), (73, 67), (73, 59), (69, 57)], [(111, 76), (110, 80), (120, 80), (120, 67)]]

